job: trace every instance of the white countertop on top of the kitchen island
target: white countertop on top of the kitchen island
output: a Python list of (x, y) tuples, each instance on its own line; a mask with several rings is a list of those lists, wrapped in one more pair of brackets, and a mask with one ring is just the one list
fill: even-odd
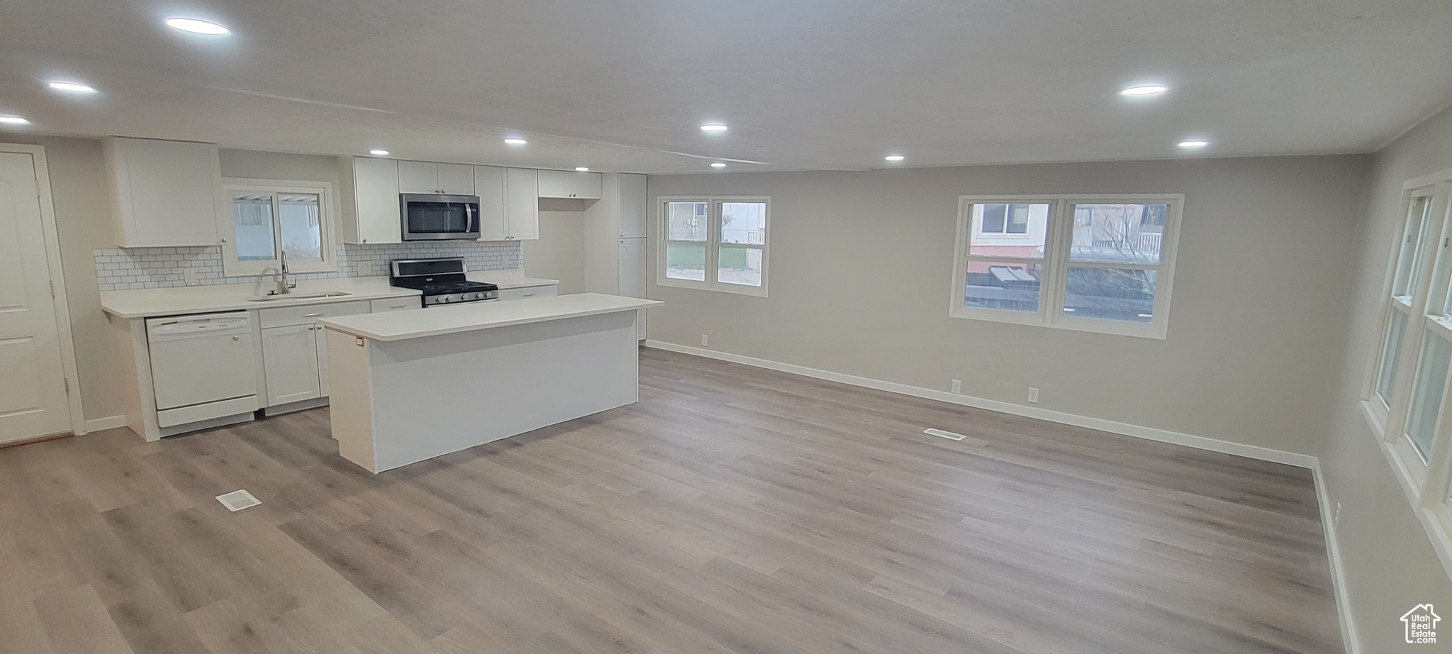
[(424, 336), (457, 334), (514, 324), (544, 323), (659, 307), (655, 299), (620, 295), (574, 294), (549, 298), (511, 299), (508, 302), (472, 302), (454, 307), (430, 307), (423, 311), (341, 315), (318, 318), (318, 324), (373, 340), (407, 340)]

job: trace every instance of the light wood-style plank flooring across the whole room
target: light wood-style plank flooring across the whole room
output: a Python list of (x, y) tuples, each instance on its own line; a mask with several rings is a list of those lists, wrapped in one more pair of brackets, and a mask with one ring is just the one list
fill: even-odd
[(327, 410), (0, 449), (0, 651), (1340, 651), (1305, 469), (640, 369), (639, 404), (376, 477)]

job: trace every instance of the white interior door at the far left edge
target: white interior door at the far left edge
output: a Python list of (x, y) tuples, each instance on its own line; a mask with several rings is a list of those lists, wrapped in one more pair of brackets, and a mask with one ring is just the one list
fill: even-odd
[(0, 443), (71, 430), (35, 160), (0, 153)]

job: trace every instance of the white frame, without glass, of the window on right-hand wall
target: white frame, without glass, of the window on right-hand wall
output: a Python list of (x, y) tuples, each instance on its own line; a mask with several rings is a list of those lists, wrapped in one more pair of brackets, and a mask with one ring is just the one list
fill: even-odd
[[(1407, 249), (1411, 235), (1411, 211), (1419, 198), (1430, 198), (1426, 215), (1416, 225), (1422, 233), (1420, 247)], [(1411, 262), (1404, 259), (1411, 256)], [(1414, 266), (1414, 269), (1413, 269)], [(1410, 295), (1401, 280), (1413, 275)], [(1407, 426), (1419, 378), (1424, 375), (1422, 360), (1432, 339), (1452, 343), (1452, 317), (1448, 295), (1452, 286), (1452, 170), (1408, 180), (1403, 185), (1398, 222), (1387, 259), (1387, 272), (1379, 296), (1379, 315), (1372, 350), (1363, 369), (1361, 395), (1362, 414), (1381, 443), (1407, 500), (1426, 529), (1443, 571), (1452, 577), (1452, 366), (1443, 372), (1442, 395), (1432, 430), (1432, 446), (1423, 459), (1411, 443)], [(1407, 317), (1401, 334), (1401, 352), (1391, 385), (1391, 401), (1379, 395), (1384, 350), (1391, 336), (1394, 314)]]

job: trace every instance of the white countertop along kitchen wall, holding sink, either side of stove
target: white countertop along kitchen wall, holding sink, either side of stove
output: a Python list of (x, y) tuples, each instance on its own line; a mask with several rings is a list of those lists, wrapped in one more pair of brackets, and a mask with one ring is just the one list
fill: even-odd
[[(501, 289), (547, 286), (559, 283), (555, 279), (527, 278), (524, 270), (482, 270), (468, 273), (472, 282), (495, 283)], [(383, 299), (420, 295), (409, 288), (389, 286), (386, 276), (338, 278), (299, 280), (292, 296), (253, 302), (274, 283), (219, 283), (212, 286), (147, 288), (132, 291), (106, 291), (100, 294), (100, 307), (119, 318), (150, 318), (154, 315), (208, 314), (213, 311), (264, 310), (272, 307), (296, 307), (306, 304), (351, 302), (357, 299)], [(303, 295), (343, 292), (331, 298), (303, 298)]]

